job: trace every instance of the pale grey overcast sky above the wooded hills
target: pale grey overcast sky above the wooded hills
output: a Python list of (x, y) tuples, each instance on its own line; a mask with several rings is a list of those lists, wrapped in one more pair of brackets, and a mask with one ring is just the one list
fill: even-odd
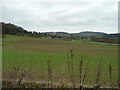
[(118, 32), (117, 2), (4, 2), (2, 21), (28, 31)]

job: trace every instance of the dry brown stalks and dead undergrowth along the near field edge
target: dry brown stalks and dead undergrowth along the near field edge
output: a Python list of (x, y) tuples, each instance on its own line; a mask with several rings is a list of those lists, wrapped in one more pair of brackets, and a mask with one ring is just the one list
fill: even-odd
[[(83, 90), (84, 88), (94, 88), (94, 89), (99, 89), (99, 88), (111, 88), (111, 89), (118, 89), (118, 81), (113, 82), (113, 66), (112, 63), (110, 62), (108, 65), (108, 72), (106, 74), (109, 74), (109, 86), (101, 86), (100, 84), (100, 79), (101, 79), (101, 72), (102, 72), (102, 61), (103, 58), (100, 60), (98, 69), (96, 72), (96, 79), (94, 85), (85, 85), (85, 80), (86, 76), (89, 73), (89, 60), (88, 62), (84, 63), (84, 57), (82, 56), (80, 58), (80, 63), (78, 67), (78, 72), (79, 72), (79, 83), (76, 83), (76, 76), (74, 72), (74, 52), (73, 48), (70, 49), (70, 55), (67, 56), (67, 72), (68, 72), (68, 81), (66, 82), (64, 78), (62, 78), (61, 75), (61, 67), (60, 68), (60, 75), (58, 79), (58, 82), (54, 81), (55, 75), (54, 75), (54, 69), (52, 67), (52, 62), (51, 62), (51, 57), (48, 57), (48, 60), (46, 62), (47, 65), (47, 73), (45, 75), (45, 69), (44, 69), (44, 63), (41, 61), (41, 74), (40, 76), (40, 81), (35, 81), (34, 77), (32, 74), (32, 60), (30, 63), (30, 66), (27, 70), (21, 69), (20, 66), (16, 65), (16, 59), (14, 60), (13, 63), (13, 69), (9, 72), (7, 77), (2, 80), (2, 87), (3, 88), (79, 88)], [(24, 54), (23, 54), (23, 59), (24, 59)], [(83, 68), (83, 66), (85, 68)], [(29, 78), (29, 80), (28, 80)], [(92, 78), (91, 78), (92, 79)], [(59, 82), (60, 81), (60, 82)]]

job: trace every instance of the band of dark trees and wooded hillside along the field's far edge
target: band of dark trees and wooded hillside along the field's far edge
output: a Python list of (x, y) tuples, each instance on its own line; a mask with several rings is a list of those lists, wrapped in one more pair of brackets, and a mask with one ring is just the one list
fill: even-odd
[(51, 32), (36, 32), (36, 31), (27, 31), (22, 27), (11, 23), (0, 22), (2, 25), (2, 38), (8, 35), (18, 35), (18, 36), (29, 36), (29, 37), (49, 37), (49, 38), (59, 38), (67, 40), (90, 40), (93, 42), (103, 42), (103, 43), (117, 43), (120, 44), (120, 33), (116, 34), (106, 34), (106, 35), (91, 35), (91, 36), (78, 36), (75, 34), (69, 34), (64, 32), (59, 32), (56, 34)]

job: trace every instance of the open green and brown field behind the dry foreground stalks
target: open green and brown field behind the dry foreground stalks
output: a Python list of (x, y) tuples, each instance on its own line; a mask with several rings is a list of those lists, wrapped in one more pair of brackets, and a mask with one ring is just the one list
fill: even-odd
[[(86, 85), (95, 84), (96, 74), (102, 59), (101, 77), (99, 83), (107, 85), (109, 78), (109, 64), (112, 64), (112, 82), (118, 79), (118, 45), (94, 43), (90, 41), (67, 41), (48, 38), (30, 38), (7, 35), (3, 39), (3, 74), (4, 78), (13, 66), (21, 70), (31, 68), (34, 81), (40, 81), (41, 73), (44, 80), (47, 75), (47, 61), (51, 62), (52, 77), (54, 82), (60, 79), (66, 83), (69, 81), (67, 68), (67, 56), (70, 56), (70, 49), (73, 48), (73, 67), (75, 83), (79, 83), (79, 63), (83, 57), (83, 73), (87, 63), (88, 72), (85, 79)], [(50, 58), (49, 58), (50, 56)]]

